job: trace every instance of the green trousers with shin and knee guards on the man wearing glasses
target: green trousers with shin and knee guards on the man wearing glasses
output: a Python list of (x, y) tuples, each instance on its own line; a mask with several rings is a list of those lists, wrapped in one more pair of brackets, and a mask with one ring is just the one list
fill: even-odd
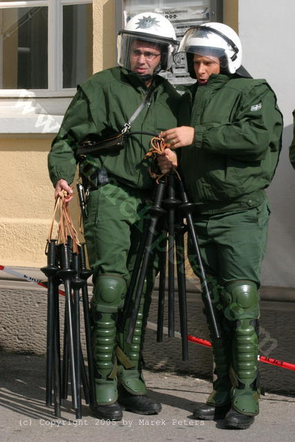
[(118, 333), (117, 321), (135, 265), (144, 220), (149, 218), (150, 204), (143, 193), (112, 183), (100, 186), (88, 196), (84, 235), (93, 270), (92, 337), (99, 404), (117, 400), (118, 380), (131, 394), (146, 393), (140, 361), (151, 291), (158, 269), (160, 234), (152, 244), (133, 344), (124, 342), (126, 327), (124, 332)]

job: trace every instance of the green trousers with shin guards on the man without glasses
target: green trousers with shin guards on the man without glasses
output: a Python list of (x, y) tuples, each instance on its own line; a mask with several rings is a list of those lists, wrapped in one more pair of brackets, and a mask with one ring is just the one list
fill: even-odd
[[(215, 338), (204, 309), (213, 345), (216, 381), (210, 405), (232, 406), (243, 414), (258, 414), (260, 394), (258, 318), (260, 269), (265, 254), (267, 202), (236, 213), (196, 216), (195, 227), (221, 338)], [(198, 263), (189, 244), (189, 260)]]

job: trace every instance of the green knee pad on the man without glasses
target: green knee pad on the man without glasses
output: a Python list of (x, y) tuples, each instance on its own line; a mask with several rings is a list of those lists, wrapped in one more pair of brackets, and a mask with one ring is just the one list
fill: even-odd
[(222, 294), (225, 317), (228, 320), (258, 319), (259, 294), (253, 281), (229, 282)]

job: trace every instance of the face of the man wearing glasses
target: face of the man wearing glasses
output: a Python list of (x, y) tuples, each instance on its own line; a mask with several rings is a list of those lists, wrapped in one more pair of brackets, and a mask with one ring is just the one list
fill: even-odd
[(158, 44), (149, 41), (135, 40), (131, 44), (131, 70), (139, 75), (152, 75), (161, 59), (161, 50)]

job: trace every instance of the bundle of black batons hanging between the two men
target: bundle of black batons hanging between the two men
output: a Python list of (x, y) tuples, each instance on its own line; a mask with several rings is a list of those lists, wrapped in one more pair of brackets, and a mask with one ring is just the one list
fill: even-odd
[[(155, 198), (153, 205), (149, 209), (151, 218), (149, 223), (146, 224), (144, 235), (142, 236), (142, 242), (137, 250), (137, 265), (133, 270), (131, 277), (131, 284), (126, 296), (126, 302), (123, 312), (123, 320), (130, 317), (129, 329), (127, 332), (127, 342), (131, 343), (133, 338), (133, 332), (135, 328), (135, 322), (140, 305), (140, 297), (142, 294), (142, 287), (144, 278), (146, 276), (146, 269), (149, 265), (151, 258), (151, 248), (153, 238), (155, 236), (155, 229), (158, 224), (158, 220), (164, 215), (166, 216), (166, 242), (168, 242), (168, 301), (169, 301), (169, 337), (173, 337), (174, 334), (174, 267), (175, 256), (177, 258), (177, 276), (178, 276), (178, 295), (180, 305), (180, 331), (182, 336), (182, 359), (187, 361), (188, 359), (188, 346), (187, 346), (187, 300), (186, 300), (186, 285), (185, 285), (185, 266), (184, 266), (184, 233), (187, 231), (189, 240), (193, 246), (193, 251), (196, 255), (196, 261), (198, 262), (199, 277), (202, 290), (204, 291), (204, 297), (206, 300), (207, 308), (209, 309), (209, 315), (212, 320), (213, 330), (216, 337), (220, 337), (220, 332), (216, 322), (215, 312), (211, 302), (211, 296), (209, 293), (206, 276), (204, 273), (204, 267), (202, 265), (202, 259), (200, 255), (200, 248), (198, 244), (198, 237), (193, 225), (192, 212), (195, 209), (195, 205), (189, 202), (187, 193), (184, 190), (184, 186), (180, 176), (178, 177), (178, 196), (180, 200), (175, 198), (175, 174), (169, 173), (167, 179), (161, 177), (158, 184), (156, 184)], [(164, 193), (166, 189), (166, 199), (164, 199)], [(184, 223), (184, 219), (186, 223)], [(175, 222), (176, 220), (176, 222)], [(157, 340), (162, 341), (163, 335), (163, 323), (164, 323), (164, 291), (165, 291), (165, 273), (166, 273), (166, 245), (160, 256), (160, 284), (159, 284), (159, 300), (158, 300), (158, 331)], [(135, 291), (136, 287), (136, 291)], [(135, 291), (135, 293), (134, 293)]]

